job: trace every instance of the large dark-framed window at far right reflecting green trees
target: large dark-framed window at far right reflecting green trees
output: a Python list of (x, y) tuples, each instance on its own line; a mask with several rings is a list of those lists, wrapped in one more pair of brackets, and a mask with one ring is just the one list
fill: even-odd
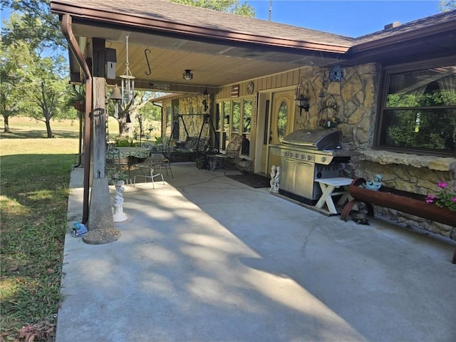
[(385, 68), (375, 145), (456, 155), (455, 61)]

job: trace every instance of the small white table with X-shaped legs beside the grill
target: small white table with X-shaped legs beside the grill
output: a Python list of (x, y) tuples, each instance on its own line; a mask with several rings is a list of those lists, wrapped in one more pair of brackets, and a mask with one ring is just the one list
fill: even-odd
[(318, 182), (321, 187), (321, 195), (315, 207), (322, 208), (323, 204), (326, 203), (328, 211), (332, 214), (337, 214), (336, 205), (333, 202), (333, 196), (342, 195), (341, 199), (338, 200), (337, 204), (343, 204), (350, 199), (350, 193), (347, 189), (343, 188), (341, 191), (334, 192), (338, 187), (348, 187), (351, 185), (353, 180), (351, 178), (336, 177), (336, 178), (317, 178), (315, 182)]

